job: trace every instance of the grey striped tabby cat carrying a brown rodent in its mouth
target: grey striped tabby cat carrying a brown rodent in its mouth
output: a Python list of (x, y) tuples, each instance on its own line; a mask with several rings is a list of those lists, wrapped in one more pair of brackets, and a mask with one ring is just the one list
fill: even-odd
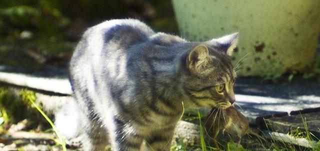
[(237, 33), (190, 42), (135, 19), (87, 29), (70, 61), (76, 105), (67, 109), (77, 110), (84, 150), (108, 144), (115, 151), (141, 144), (169, 150), (183, 107), (225, 108), (235, 101), (230, 55), (236, 42)]

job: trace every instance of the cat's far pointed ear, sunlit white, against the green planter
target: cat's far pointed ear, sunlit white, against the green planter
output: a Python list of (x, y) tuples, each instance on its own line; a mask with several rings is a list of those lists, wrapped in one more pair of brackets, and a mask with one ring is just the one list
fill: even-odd
[(224, 51), (227, 55), (232, 55), (233, 49), (238, 42), (238, 32), (212, 39), (211, 41), (214, 41), (214, 45)]

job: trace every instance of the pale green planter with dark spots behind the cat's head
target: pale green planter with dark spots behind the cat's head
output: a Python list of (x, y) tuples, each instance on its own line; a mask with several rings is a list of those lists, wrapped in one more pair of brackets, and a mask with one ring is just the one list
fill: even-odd
[(172, 0), (180, 34), (208, 40), (239, 32), (242, 75), (299, 70), (314, 60), (320, 0)]

